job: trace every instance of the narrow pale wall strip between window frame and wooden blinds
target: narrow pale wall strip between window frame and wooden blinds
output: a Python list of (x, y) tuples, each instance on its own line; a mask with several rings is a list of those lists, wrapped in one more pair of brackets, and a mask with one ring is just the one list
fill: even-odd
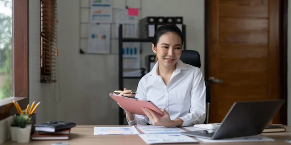
[(56, 119), (55, 84), (40, 83), (40, 0), (29, 2), (29, 83), (30, 104), (41, 102), (36, 111), (36, 123)]

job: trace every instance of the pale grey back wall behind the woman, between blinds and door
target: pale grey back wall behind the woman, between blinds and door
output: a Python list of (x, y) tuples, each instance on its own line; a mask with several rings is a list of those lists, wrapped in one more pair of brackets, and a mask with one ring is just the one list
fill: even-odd
[[(127, 0), (127, 2), (129, 7), (140, 8), (142, 17), (147, 15), (183, 16), (184, 23), (187, 25), (188, 49), (199, 51), (202, 66), (204, 66), (204, 0), (183, 0), (183, 2)], [(89, 3), (89, 0), (82, 0), (82, 3)], [(113, 7), (124, 8), (125, 0), (113, 0)], [(61, 86), (61, 102), (57, 105), (57, 118), (75, 121), (79, 125), (118, 124), (118, 106), (108, 96), (114, 89), (118, 89), (117, 41), (112, 41), (112, 49), (114, 49), (111, 50), (112, 54), (80, 54), (79, 14), (80, 0), (58, 0), (60, 73), (58, 81)], [(148, 50), (148, 52), (144, 51), (142, 58), (145, 54), (152, 54), (151, 44), (144, 43), (143, 50)], [(125, 80), (125, 87), (136, 89), (137, 83), (137, 80)], [(50, 101), (45, 103), (55, 104)], [(55, 109), (54, 106), (50, 108)]]

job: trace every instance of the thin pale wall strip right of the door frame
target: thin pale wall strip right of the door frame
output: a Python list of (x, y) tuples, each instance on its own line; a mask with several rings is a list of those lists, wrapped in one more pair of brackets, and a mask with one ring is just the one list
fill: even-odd
[(288, 1), (288, 125), (291, 125), (291, 1)]

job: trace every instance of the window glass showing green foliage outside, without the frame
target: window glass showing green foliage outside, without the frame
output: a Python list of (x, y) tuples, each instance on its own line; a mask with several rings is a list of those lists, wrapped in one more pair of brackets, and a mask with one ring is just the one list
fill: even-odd
[(12, 96), (12, 0), (0, 0), (0, 100)]

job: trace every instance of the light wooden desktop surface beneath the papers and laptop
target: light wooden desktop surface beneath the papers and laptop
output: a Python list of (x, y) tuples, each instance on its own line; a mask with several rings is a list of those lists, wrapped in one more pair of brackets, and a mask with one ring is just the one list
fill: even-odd
[[(278, 126), (285, 127), (286, 132), (262, 134), (275, 139), (273, 142), (203, 143), (200, 141), (199, 144), (194, 145), (291, 145), (291, 143), (285, 142), (286, 139), (291, 139), (291, 127), (284, 125)], [(28, 144), (17, 144), (16, 142), (7, 141), (3, 145), (51, 145), (58, 142), (66, 142), (69, 143), (69, 145), (147, 145), (138, 135), (93, 135), (94, 127), (98, 126), (76, 126), (72, 128), (70, 139), (67, 141), (31, 141)], [(143, 133), (138, 128), (136, 129), (140, 133)], [(183, 130), (187, 131), (186, 129)], [(199, 141), (198, 139), (196, 140)]]

